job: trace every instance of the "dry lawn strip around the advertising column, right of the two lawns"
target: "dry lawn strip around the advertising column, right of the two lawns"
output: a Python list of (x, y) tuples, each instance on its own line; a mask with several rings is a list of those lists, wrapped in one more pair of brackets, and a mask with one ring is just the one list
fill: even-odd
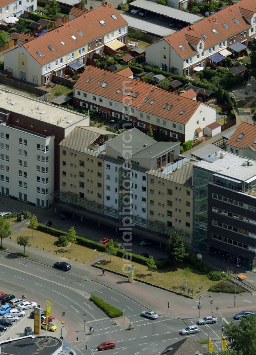
[[(103, 266), (106, 269), (110, 269), (113, 271), (120, 272), (124, 274), (122, 271), (123, 265), (127, 264), (125, 270), (128, 270), (128, 264), (117, 256), (111, 256), (111, 263), (109, 262), (110, 257), (103, 259), (100, 261), (99, 266)], [(185, 277), (183, 276), (183, 269), (187, 267), (187, 265), (180, 265), (179, 268), (176, 267), (168, 267), (163, 270), (153, 270), (152, 276), (150, 274), (150, 270), (148, 270), (147, 266), (138, 264), (136, 262), (132, 262), (134, 265), (134, 277), (150, 282), (155, 285), (163, 286), (167, 289), (180, 291), (180, 286), (185, 285)], [(193, 269), (193, 267), (191, 267)], [(203, 286), (203, 291), (207, 290), (210, 286), (215, 285), (216, 281), (211, 281), (208, 279), (207, 275), (203, 274), (200, 271), (194, 270), (188, 277), (188, 286), (192, 290), (194, 290), (194, 294), (198, 291), (199, 286)], [(187, 291), (186, 291), (187, 294)]]

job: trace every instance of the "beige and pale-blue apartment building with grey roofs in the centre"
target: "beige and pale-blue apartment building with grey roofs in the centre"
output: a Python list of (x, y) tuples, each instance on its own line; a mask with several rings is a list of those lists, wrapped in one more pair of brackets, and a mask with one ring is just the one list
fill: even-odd
[[(131, 141), (124, 144), (128, 137)], [(117, 220), (127, 214), (136, 226), (151, 231), (170, 234), (176, 228), (191, 245), (192, 164), (184, 159), (175, 165), (180, 143), (156, 142), (134, 128), (97, 151), (87, 144), (87, 127), (77, 127), (60, 143), (56, 197)]]

